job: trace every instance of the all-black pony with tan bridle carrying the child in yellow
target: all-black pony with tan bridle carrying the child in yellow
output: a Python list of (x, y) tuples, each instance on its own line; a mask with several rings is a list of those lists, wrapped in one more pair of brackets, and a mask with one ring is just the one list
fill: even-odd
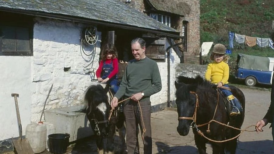
[[(215, 121), (210, 124), (208, 122), (216, 120), (240, 129), (244, 122), (245, 97), (243, 92), (230, 85), (232, 94), (241, 102), (243, 107), (243, 112), (240, 115), (230, 118), (226, 111), (225, 101), (220, 92), (216, 90), (216, 85), (205, 81), (200, 76), (195, 79), (180, 76), (177, 77), (177, 80), (178, 82), (175, 81), (179, 121), (177, 132), (182, 136), (186, 136), (189, 128), (192, 127), (195, 144), (200, 154), (206, 154), (207, 142), (211, 143), (213, 154), (235, 154), (237, 138), (229, 139), (239, 135), (241, 131)], [(202, 132), (205, 137), (199, 132)], [(225, 140), (227, 141), (215, 142)]]

